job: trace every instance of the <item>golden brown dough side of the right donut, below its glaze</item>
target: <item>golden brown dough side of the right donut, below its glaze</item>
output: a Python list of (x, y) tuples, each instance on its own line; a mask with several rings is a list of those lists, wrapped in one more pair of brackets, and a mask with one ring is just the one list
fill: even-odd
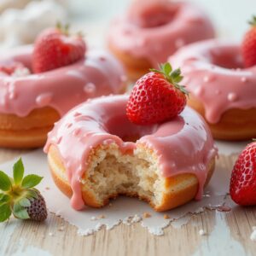
[[(189, 95), (188, 104), (206, 119), (205, 108), (195, 96)], [(217, 124), (209, 122), (207, 124), (215, 139), (230, 141), (252, 139), (256, 137), (256, 108), (232, 108), (223, 113)]]

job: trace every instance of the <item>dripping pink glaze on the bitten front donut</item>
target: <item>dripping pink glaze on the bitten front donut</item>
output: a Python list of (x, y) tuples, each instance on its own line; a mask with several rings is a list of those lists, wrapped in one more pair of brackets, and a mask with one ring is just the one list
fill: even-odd
[[(185, 108), (180, 116), (163, 124), (134, 125), (126, 117), (127, 100), (126, 95), (89, 100), (73, 108), (49, 132), (44, 152), (48, 152), (51, 144), (58, 148), (73, 189), (73, 208), (84, 207), (79, 180), (92, 148), (108, 143), (118, 144), (123, 154), (133, 154), (141, 143), (152, 148), (159, 157), (164, 177), (194, 173), (200, 183), (196, 199), (201, 199), (206, 166), (217, 154), (204, 120), (191, 108)], [(122, 140), (137, 135), (137, 143)]]

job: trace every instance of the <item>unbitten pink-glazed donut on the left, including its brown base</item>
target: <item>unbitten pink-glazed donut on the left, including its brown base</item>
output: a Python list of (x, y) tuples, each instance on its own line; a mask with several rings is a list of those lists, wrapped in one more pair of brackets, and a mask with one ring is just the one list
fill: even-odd
[[(32, 70), (32, 47), (12, 50), (0, 64), (18, 61)], [(124, 71), (112, 55), (87, 50), (66, 67), (21, 77), (0, 74), (0, 146), (35, 148), (67, 111), (88, 98), (125, 90)]]

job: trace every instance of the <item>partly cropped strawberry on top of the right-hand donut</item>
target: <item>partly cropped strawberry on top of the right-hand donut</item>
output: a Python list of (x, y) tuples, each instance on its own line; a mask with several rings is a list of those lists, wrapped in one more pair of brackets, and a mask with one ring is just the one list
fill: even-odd
[(245, 67), (256, 65), (256, 16), (249, 22), (252, 28), (246, 33), (241, 45), (241, 54)]

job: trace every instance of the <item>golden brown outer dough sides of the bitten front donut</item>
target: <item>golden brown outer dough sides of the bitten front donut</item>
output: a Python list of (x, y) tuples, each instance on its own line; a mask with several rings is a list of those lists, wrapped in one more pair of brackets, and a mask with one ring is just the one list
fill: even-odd
[[(67, 181), (66, 170), (61, 161), (61, 156), (58, 149), (51, 145), (48, 153), (49, 169), (57, 187), (61, 190), (64, 195), (71, 197), (73, 195), (72, 189)], [(215, 159), (212, 158), (209, 165), (207, 166), (207, 183), (212, 177), (214, 171)], [(84, 172), (84, 178), (86, 178), (86, 172)], [(184, 173), (174, 177), (167, 177), (165, 180), (165, 194), (160, 206), (155, 206), (148, 197), (140, 197), (143, 201), (148, 201), (151, 207), (157, 212), (163, 212), (170, 210), (174, 207), (183, 205), (195, 198), (198, 190), (198, 180), (194, 174)], [(96, 200), (95, 195), (90, 193), (89, 189), (82, 189), (82, 196), (84, 204), (90, 207), (104, 207), (108, 204), (109, 199), (115, 198), (117, 194), (110, 195), (103, 204)], [(125, 195), (139, 197), (137, 193), (125, 193)]]

